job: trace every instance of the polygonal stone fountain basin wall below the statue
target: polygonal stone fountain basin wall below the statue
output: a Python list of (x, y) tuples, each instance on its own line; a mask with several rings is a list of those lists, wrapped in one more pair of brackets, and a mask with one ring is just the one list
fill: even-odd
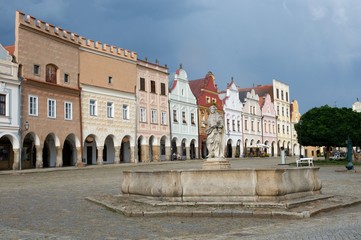
[(280, 202), (320, 194), (318, 167), (123, 171), (123, 195), (180, 202)]

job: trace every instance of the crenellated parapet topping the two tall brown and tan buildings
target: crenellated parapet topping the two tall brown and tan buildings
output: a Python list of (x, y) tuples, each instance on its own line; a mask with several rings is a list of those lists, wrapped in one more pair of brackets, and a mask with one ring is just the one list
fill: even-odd
[(72, 33), (60, 27), (56, 27), (52, 24), (36, 19), (35, 17), (22, 13), (20, 11), (16, 12), (16, 25), (23, 28), (31, 28), (35, 31), (42, 32), (48, 36), (76, 44), (79, 47), (83, 47), (89, 50), (106, 53), (109, 55), (122, 57), (133, 61), (137, 60), (136, 52), (112, 46), (99, 41), (86, 39), (85, 37), (79, 36), (76, 33)]

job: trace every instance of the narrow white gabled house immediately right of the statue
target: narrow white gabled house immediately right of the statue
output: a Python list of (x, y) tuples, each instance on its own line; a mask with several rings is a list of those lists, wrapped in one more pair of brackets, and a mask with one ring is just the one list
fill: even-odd
[(228, 84), (227, 89), (219, 93), (219, 98), (223, 101), (225, 156), (229, 158), (241, 157), (243, 152), (243, 104), (239, 100), (238, 87), (233, 82), (233, 79)]

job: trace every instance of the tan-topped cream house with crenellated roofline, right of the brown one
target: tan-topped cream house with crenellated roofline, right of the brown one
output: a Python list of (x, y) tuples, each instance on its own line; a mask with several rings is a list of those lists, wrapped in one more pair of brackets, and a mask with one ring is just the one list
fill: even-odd
[(79, 39), (83, 162), (135, 161), (137, 54)]

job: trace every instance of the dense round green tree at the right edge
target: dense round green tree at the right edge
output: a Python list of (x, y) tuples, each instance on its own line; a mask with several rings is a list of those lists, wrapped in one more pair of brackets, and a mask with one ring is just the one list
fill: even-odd
[(351, 138), (354, 145), (361, 143), (361, 113), (351, 108), (333, 108), (322, 106), (312, 108), (302, 115), (295, 125), (298, 142), (303, 146), (325, 146), (326, 159), (330, 147), (346, 146)]

